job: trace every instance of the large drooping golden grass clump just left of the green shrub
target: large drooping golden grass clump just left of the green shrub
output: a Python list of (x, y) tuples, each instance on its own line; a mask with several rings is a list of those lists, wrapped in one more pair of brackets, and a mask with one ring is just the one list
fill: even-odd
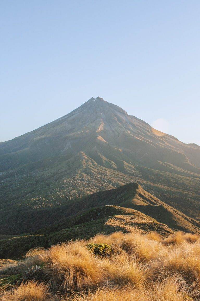
[(98, 261), (85, 247), (85, 241), (53, 246), (41, 258), (58, 289), (81, 291), (100, 281)]

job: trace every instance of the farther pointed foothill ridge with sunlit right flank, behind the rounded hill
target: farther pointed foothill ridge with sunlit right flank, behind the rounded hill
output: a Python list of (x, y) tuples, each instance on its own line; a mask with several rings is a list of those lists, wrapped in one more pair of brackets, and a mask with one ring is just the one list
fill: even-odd
[[(60, 231), (60, 229), (71, 227), (71, 225), (98, 219), (96, 211), (92, 211), (94, 215), (91, 215), (88, 210), (108, 205), (118, 206), (123, 212), (125, 209), (137, 210), (140, 214), (145, 214), (145, 216), (147, 215), (159, 223), (166, 224), (174, 230), (200, 232), (200, 222), (187, 217), (177, 209), (160, 201), (142, 189), (137, 183), (130, 183), (116, 189), (90, 194), (72, 200), (66, 205), (31, 209), (26, 212), (22, 210), (10, 212), (8, 217), (5, 216), (2, 219), (0, 231), (3, 234), (20, 234), (38, 230), (34, 234), (50, 234)], [(114, 215), (114, 210), (109, 215)]]

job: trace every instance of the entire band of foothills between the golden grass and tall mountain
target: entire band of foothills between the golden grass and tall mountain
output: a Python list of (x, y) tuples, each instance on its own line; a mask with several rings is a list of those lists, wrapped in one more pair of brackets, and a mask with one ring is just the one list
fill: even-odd
[(0, 258), (4, 259), (19, 258), (31, 248), (47, 248), (98, 233), (155, 231), (162, 236), (175, 230), (200, 233), (198, 221), (163, 203), (137, 183), (73, 200), (69, 206), (31, 210), (26, 216), (11, 216), (11, 220), (12, 231), (16, 231), (22, 221), (24, 228), (35, 231), (14, 237), (2, 236)]

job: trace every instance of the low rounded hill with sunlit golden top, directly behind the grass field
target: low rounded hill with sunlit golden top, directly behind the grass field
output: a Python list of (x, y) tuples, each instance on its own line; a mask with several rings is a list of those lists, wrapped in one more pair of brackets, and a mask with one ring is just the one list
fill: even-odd
[(68, 218), (65, 222), (41, 229), (37, 234), (26, 234), (0, 240), (0, 258), (21, 258), (22, 254), (35, 247), (50, 247), (52, 244), (76, 238), (90, 238), (98, 233), (114, 231), (142, 233), (156, 231), (167, 236), (173, 231), (167, 225), (130, 208), (102, 206)]

